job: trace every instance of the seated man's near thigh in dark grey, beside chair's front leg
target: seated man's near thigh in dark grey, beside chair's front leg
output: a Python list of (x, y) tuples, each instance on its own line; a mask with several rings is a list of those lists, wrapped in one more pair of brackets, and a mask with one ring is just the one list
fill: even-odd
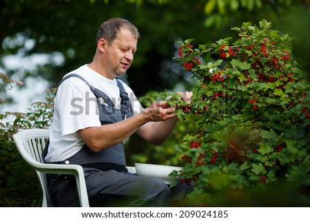
[(112, 170), (84, 170), (91, 206), (162, 207), (169, 203), (170, 189), (162, 180)]

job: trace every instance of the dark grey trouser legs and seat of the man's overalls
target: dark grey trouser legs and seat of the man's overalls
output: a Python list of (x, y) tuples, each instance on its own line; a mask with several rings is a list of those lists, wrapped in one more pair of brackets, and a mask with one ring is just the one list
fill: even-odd
[[(84, 167), (91, 207), (168, 207), (178, 205), (194, 188), (178, 183), (169, 188), (162, 180), (114, 170)], [(74, 176), (50, 179), (50, 195), (55, 207), (79, 207)]]

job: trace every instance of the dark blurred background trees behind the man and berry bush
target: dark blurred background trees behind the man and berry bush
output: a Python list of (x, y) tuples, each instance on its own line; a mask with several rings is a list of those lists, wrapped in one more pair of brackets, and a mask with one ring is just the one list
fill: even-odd
[[(169, 62), (177, 50), (176, 40), (194, 34), (197, 42), (212, 42), (231, 34), (230, 27), (243, 21), (272, 21), (274, 27), (296, 39), (294, 54), (304, 61), (310, 58), (310, 52), (304, 51), (310, 44), (309, 0), (3, 0), (0, 10), (0, 67), (4, 65), (3, 56), (49, 54), (48, 63), (17, 77), (43, 76), (53, 87), (65, 73), (92, 61), (96, 28), (110, 17), (129, 19), (141, 31), (138, 53), (127, 76), (138, 96), (187, 82)], [(32, 45), (25, 48), (29, 40)], [(8, 76), (16, 72), (6, 70)]]

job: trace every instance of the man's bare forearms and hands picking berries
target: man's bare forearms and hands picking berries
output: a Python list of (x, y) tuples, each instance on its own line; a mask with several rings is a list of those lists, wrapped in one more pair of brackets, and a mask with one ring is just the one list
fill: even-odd
[[(138, 134), (148, 142), (158, 143), (158, 140), (163, 140), (163, 134), (173, 129), (177, 120), (174, 111), (174, 108), (167, 107), (165, 101), (157, 101), (143, 110), (143, 112), (120, 122), (102, 125), (100, 127), (87, 127), (76, 133), (92, 151), (101, 151), (102, 149), (123, 142), (123, 140), (134, 134), (142, 125), (151, 122), (145, 125), (145, 129), (139, 130)], [(154, 133), (155, 131), (153, 132), (153, 129), (165, 128), (165, 125), (162, 125), (159, 121), (162, 121), (162, 123), (167, 121), (168, 129), (165, 132), (158, 131), (157, 135), (157, 133)], [(156, 123), (156, 126), (152, 122)]]

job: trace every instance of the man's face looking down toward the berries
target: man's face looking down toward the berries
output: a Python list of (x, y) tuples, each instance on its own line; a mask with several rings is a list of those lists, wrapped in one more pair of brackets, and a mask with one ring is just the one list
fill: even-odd
[(138, 39), (136, 36), (122, 28), (116, 35), (116, 39), (105, 46), (105, 74), (108, 78), (115, 78), (125, 74), (134, 61), (134, 53)]

